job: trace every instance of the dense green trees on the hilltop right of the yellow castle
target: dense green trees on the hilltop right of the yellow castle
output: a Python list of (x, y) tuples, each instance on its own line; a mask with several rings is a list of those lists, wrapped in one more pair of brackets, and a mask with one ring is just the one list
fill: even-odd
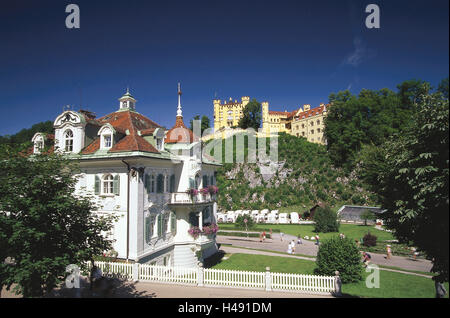
[(380, 146), (411, 122), (413, 103), (427, 90), (421, 81), (406, 81), (398, 92), (363, 89), (358, 96), (349, 91), (331, 94), (324, 134), (333, 164), (351, 170), (364, 145)]

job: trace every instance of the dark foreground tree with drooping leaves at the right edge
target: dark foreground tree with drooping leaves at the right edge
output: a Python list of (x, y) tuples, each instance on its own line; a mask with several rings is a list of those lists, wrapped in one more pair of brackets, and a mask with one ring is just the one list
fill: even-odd
[(369, 162), (378, 177), (368, 180), (387, 209), (385, 225), (425, 252), (439, 273), (434, 279), (448, 282), (449, 102), (440, 92), (418, 100), (412, 124), (380, 147), (382, 161)]

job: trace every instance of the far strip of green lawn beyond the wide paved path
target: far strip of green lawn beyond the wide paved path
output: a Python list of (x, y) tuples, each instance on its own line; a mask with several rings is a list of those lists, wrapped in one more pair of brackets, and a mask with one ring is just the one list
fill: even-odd
[[(221, 223), (219, 224), (219, 228), (221, 230), (235, 230), (234, 224), (231, 223)], [(290, 235), (301, 235), (304, 236), (314, 236), (316, 233), (314, 232), (313, 224), (257, 224), (256, 227), (249, 231), (260, 231), (262, 229), (279, 229), (281, 232), (290, 234)], [(367, 232), (370, 231), (371, 234), (376, 235), (378, 241), (386, 241), (386, 240), (394, 240), (394, 236), (386, 231), (381, 231), (375, 229), (373, 226), (364, 226), (364, 225), (356, 225), (356, 224), (341, 224), (339, 228), (340, 233), (344, 233), (345, 236), (351, 239), (359, 240), (362, 238)], [(319, 233), (320, 239), (328, 239), (332, 236), (336, 236), (339, 233)]]

